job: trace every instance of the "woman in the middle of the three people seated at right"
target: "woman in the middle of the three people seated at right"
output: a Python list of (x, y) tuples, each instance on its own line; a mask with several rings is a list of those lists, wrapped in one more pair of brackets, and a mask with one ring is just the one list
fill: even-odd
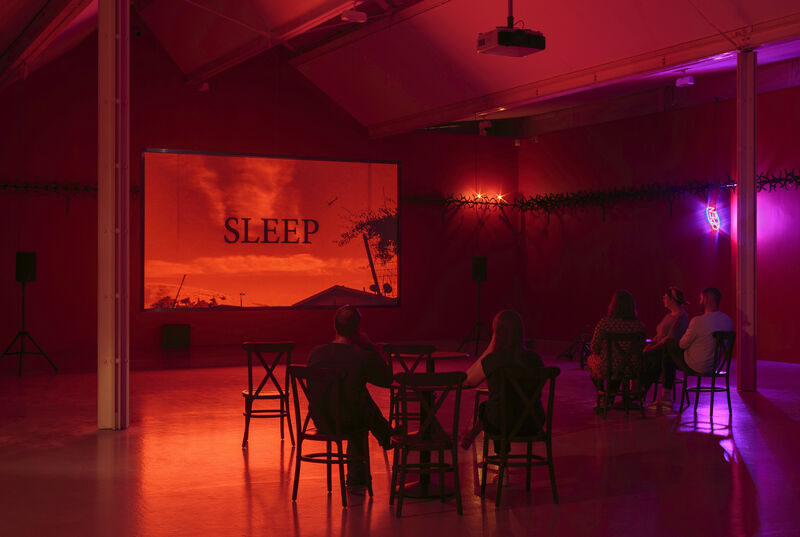
[[(661, 298), (664, 307), (669, 310), (661, 322), (656, 326), (656, 335), (653, 340), (648, 343), (644, 348), (643, 354), (643, 367), (648, 371), (645, 372), (645, 386), (649, 389), (653, 382), (662, 374), (663, 364), (662, 357), (664, 356), (664, 346), (670, 339), (679, 340), (683, 333), (686, 332), (686, 327), (689, 326), (689, 317), (686, 315), (686, 310), (683, 306), (689, 302), (683, 297), (683, 291), (678, 287), (667, 287), (667, 292)], [(650, 406), (659, 407), (664, 401), (664, 388), (662, 387), (658, 399), (651, 403)], [(668, 406), (672, 406), (672, 389), (669, 390), (669, 395), (666, 401)]]

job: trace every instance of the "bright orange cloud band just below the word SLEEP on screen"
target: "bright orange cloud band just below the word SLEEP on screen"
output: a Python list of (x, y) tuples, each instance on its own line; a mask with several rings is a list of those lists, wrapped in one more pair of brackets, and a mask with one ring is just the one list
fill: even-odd
[(226, 257), (198, 257), (191, 263), (173, 263), (154, 259), (147, 261), (148, 278), (165, 278), (182, 274), (266, 274), (273, 272), (304, 273), (311, 276), (339, 275), (363, 269), (362, 259), (320, 259), (309, 254), (286, 257), (266, 255), (238, 255)]

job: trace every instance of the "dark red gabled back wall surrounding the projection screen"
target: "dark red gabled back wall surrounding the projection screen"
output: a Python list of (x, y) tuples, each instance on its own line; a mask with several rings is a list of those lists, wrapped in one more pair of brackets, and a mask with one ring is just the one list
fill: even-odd
[[(0, 95), (0, 121), (15, 126), (0, 132), (3, 180), (96, 181), (96, 54), (95, 40), (87, 40)], [(510, 140), (438, 133), (370, 140), (277, 51), (212, 79), (210, 89), (199, 92), (183, 82), (182, 73), (142, 28), (132, 41), (131, 71), (131, 181), (136, 186), (141, 186), (142, 148), (397, 160), (401, 200), (472, 189), (477, 172), (494, 188), (512, 191), (516, 186), (516, 148)], [(512, 258), (515, 243), (502, 231), (506, 224), (402, 202), (400, 213), (402, 306), (367, 310), (365, 327), (381, 340), (460, 339), (475, 316), (471, 257), (487, 255), (495, 270)], [(248, 338), (321, 342), (331, 337), (330, 310), (140, 311), (141, 196), (132, 198), (131, 214), (134, 366), (137, 356), (152, 358), (143, 350), (159, 346), (165, 323), (191, 324), (197, 346)], [(33, 250), (39, 274), (28, 286), (28, 328), (62, 369), (92, 369), (96, 198), (76, 196), (68, 203), (65, 196), (6, 192), (0, 196), (0, 225), (0, 289), (7, 297), (0, 304), (0, 341), (10, 342), (17, 330), (14, 252)], [(503, 280), (521, 289), (520, 277), (511, 274)], [(484, 311), (515, 306), (507, 301), (519, 293), (502, 291), (487, 285)], [(494, 296), (486, 296), (489, 292)]]

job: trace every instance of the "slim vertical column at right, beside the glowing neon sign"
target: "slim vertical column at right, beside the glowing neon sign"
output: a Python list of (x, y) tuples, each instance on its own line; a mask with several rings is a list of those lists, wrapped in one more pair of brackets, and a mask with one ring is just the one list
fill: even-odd
[(736, 356), (737, 387), (756, 390), (756, 53), (736, 65)]

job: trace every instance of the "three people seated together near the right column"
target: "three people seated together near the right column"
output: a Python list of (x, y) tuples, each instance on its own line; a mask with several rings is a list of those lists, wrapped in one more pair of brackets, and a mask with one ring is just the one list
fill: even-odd
[[(716, 287), (706, 287), (700, 292), (700, 306), (703, 313), (692, 318), (686, 314), (684, 306), (689, 302), (683, 291), (668, 287), (662, 301), (668, 313), (656, 326), (656, 333), (643, 348), (642, 361), (626, 361), (612, 351), (608, 356), (606, 337), (612, 333), (641, 333), (644, 324), (636, 313), (633, 296), (627, 291), (617, 291), (608, 306), (608, 314), (603, 317), (594, 330), (590, 344), (592, 354), (587, 359), (589, 376), (595, 386), (610, 392), (618, 389), (622, 379), (641, 379), (640, 388), (646, 392), (663, 375), (661, 392), (650, 406), (670, 411), (673, 407), (673, 386), (678, 369), (687, 373), (708, 374), (714, 367), (713, 333), (733, 330), (733, 321), (719, 311), (722, 293)], [(609, 359), (611, 377), (609, 378)], [(639, 370), (638, 368), (643, 368)]]

